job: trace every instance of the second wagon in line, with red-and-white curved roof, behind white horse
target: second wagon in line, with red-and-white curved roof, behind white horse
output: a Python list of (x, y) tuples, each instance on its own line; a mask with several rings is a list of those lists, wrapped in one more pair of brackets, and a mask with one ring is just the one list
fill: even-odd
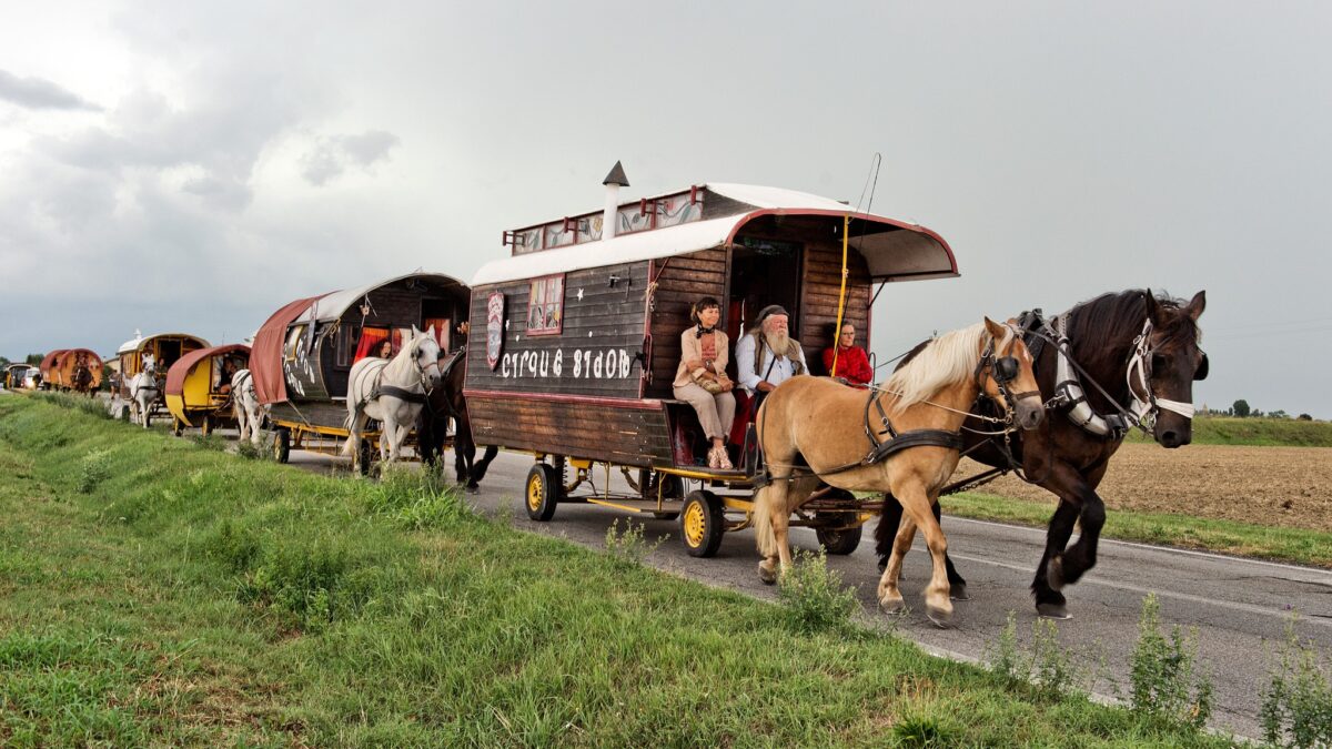
[[(394, 353), (412, 327), (434, 328), (441, 352), (457, 348), (468, 319), (466, 284), (440, 273), (409, 273), (365, 287), (292, 301), (254, 336), (254, 390), (270, 405), (273, 450), (290, 448), (336, 454), (346, 438), (346, 388), (352, 365), (377, 356), (385, 341)], [(378, 433), (361, 442), (362, 469), (373, 462)]]

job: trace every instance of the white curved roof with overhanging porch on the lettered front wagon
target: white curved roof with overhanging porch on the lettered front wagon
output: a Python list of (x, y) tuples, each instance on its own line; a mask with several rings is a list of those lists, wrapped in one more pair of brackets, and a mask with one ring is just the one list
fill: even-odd
[(710, 196), (734, 201), (737, 213), (496, 260), (477, 272), (472, 285), (711, 249), (730, 244), (746, 224), (765, 216), (850, 216), (851, 248), (864, 256), (870, 277), (876, 281), (958, 275), (948, 243), (924, 227), (856, 212), (843, 203), (791, 189), (726, 183), (709, 183), (705, 189)]

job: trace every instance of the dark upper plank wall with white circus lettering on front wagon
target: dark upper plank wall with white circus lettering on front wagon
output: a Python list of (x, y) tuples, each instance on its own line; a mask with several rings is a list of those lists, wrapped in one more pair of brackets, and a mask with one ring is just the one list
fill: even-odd
[[(472, 390), (488, 390), (638, 398), (645, 356), (647, 265), (642, 261), (566, 273), (558, 335), (527, 335), (531, 280), (476, 288), (472, 295), (474, 335), (468, 343), (469, 397)], [(617, 277), (614, 284), (611, 276)], [(484, 321), (488, 300), (497, 291), (505, 295), (506, 331), (501, 361), (490, 369)], [(614, 372), (606, 368), (609, 357), (614, 359)], [(481, 405), (482, 412), (489, 409)], [(486, 442), (482, 440), (482, 444)]]

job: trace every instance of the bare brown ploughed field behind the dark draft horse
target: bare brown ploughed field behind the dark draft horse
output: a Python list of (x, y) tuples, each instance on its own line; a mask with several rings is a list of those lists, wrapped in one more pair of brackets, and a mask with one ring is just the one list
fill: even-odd
[[(964, 460), (958, 476), (979, 466)], [(1054, 502), (1012, 476), (979, 492)], [(1110, 509), (1167, 512), (1332, 532), (1332, 448), (1126, 444), (1110, 462), (1100, 496)]]

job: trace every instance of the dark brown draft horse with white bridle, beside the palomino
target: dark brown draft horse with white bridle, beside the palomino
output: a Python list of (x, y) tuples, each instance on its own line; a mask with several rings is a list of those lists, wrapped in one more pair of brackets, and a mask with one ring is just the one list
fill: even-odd
[[(1070, 341), (1070, 356), (1086, 372), (1082, 389), (1095, 413), (1116, 413), (1116, 406), (1099, 392), (1096, 384), (1114, 397), (1115, 404), (1135, 402), (1136, 396), (1136, 402), (1147, 412), (1148, 420), (1155, 417), (1151, 430), (1158, 442), (1166, 448), (1187, 445), (1192, 440), (1192, 406), (1179, 408), (1184, 413), (1172, 408), (1191, 404), (1193, 381), (1207, 377), (1207, 355), (1197, 347), (1201, 340), (1197, 319), (1205, 307), (1205, 292), (1197, 292), (1184, 304), (1183, 300), (1168, 296), (1154, 296), (1150, 289), (1131, 289), (1102, 295), (1063, 313), (1060, 317), (1064, 336)], [(1144, 331), (1148, 332), (1146, 347), (1140, 348), (1138, 341)], [(1035, 369), (1040, 392), (1055, 397), (1059, 384), (1055, 345), (1038, 336), (1028, 336), (1028, 341), (1036, 351)], [(1130, 385), (1130, 363), (1135, 353), (1140, 355), (1144, 364), (1146, 392), (1136, 372), (1135, 382)], [(999, 444), (963, 430), (967, 442), (964, 449), (974, 449), (968, 452), (970, 457), (1006, 470), (1016, 465), (1031, 482), (1059, 497), (1059, 508), (1051, 517), (1046, 534), (1046, 550), (1031, 581), (1036, 612), (1052, 618), (1070, 616), (1067, 598), (1060, 589), (1076, 582), (1096, 565), (1096, 542), (1106, 524), (1106, 505), (1096, 494), (1096, 486), (1106, 476), (1110, 458), (1124, 440), (1124, 432), (1098, 436), (1076, 425), (1070, 420), (1070, 412), (1075, 406), (1074, 402), (1054, 405), (1039, 429), (1014, 434), (1012, 462)], [(966, 426), (984, 430), (978, 420), (968, 420)], [(938, 512), (936, 505), (935, 517)], [(880, 564), (890, 556), (900, 517), (902, 506), (892, 496), (886, 497), (883, 517), (875, 529)], [(1066, 549), (1075, 522), (1082, 525), (1082, 534), (1076, 544)], [(966, 580), (947, 557), (946, 566), (955, 597), (966, 598)]]

